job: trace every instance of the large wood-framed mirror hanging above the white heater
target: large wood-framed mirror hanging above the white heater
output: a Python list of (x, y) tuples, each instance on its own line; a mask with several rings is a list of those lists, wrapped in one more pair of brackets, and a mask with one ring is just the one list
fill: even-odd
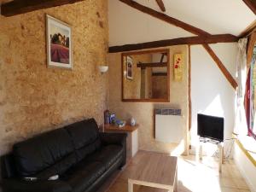
[(169, 102), (169, 49), (122, 54), (122, 101)]

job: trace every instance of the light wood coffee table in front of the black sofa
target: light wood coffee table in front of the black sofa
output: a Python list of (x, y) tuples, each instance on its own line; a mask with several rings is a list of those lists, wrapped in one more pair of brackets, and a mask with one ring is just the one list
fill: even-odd
[(133, 184), (177, 192), (177, 157), (148, 152), (135, 159), (139, 161), (131, 162), (137, 167), (129, 175), (128, 192), (133, 192)]

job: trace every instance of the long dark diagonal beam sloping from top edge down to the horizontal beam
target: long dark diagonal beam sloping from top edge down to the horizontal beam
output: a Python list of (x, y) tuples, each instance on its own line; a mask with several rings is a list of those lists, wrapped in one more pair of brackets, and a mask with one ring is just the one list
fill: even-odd
[(178, 26), (178, 27), (181, 27), (183, 28), (184, 30), (188, 31), (188, 32), (191, 32), (195, 35), (201, 35), (201, 36), (208, 36), (210, 35), (208, 32), (205, 32), (195, 26), (191, 26), (187, 23), (184, 23), (183, 21), (181, 20), (177, 20), (173, 17), (170, 17), (168, 15), (165, 15), (165, 14), (162, 14), (158, 11), (155, 11), (154, 9), (150, 9), (146, 6), (143, 6), (142, 4), (140, 3), (137, 3), (135, 1), (132, 1), (132, 0), (119, 0), (120, 2), (123, 2), (127, 5), (129, 5), (130, 7), (134, 8), (134, 9), (137, 9), (145, 14), (148, 14), (148, 15), (151, 15), (157, 19), (160, 19), (160, 20), (163, 20), (163, 21), (166, 21), (167, 23), (169, 24), (172, 24), (174, 26)]

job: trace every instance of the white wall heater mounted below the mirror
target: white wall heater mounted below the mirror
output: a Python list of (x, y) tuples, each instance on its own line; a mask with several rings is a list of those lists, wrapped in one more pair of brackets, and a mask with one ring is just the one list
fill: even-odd
[(180, 143), (183, 139), (181, 109), (155, 109), (155, 140), (163, 143)]

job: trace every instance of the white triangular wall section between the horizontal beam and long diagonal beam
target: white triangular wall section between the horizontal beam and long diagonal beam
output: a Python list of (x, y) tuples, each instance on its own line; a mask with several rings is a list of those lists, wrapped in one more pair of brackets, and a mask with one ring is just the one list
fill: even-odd
[(109, 46), (194, 36), (119, 2), (108, 1)]

